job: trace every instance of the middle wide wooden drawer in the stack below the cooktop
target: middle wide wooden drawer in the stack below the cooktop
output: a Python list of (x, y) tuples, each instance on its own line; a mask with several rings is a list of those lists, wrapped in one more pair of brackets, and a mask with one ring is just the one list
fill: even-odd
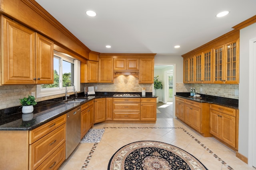
[(140, 103), (113, 103), (113, 111), (140, 111)]

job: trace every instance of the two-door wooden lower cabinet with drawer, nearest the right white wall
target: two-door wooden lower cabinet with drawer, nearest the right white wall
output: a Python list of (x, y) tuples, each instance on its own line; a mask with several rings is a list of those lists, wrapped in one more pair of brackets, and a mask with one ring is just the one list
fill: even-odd
[(210, 104), (210, 133), (234, 149), (238, 149), (236, 109)]

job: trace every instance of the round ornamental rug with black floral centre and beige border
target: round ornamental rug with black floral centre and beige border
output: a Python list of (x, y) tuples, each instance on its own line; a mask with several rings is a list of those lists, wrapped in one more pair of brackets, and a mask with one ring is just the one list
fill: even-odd
[(120, 148), (108, 170), (208, 170), (194, 156), (173, 145), (139, 141)]

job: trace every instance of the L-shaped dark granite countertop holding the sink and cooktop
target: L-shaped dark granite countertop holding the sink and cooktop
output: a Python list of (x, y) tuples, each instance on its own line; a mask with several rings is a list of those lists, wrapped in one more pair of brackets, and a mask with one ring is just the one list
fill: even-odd
[[(30, 121), (23, 121), (20, 106), (2, 109), (0, 110), (0, 130), (32, 130), (44, 123), (56, 119), (61, 115), (64, 115), (68, 111), (71, 111), (94, 98), (111, 98), (116, 93), (127, 92), (96, 92), (95, 95), (89, 95), (88, 97), (84, 96), (84, 93), (80, 93), (78, 94), (78, 98), (86, 99), (84, 102), (80, 103), (63, 102), (64, 97), (38, 102), (36, 107), (34, 107), (32, 115), (33, 119)], [(131, 93), (134, 94), (134, 92)], [(141, 96), (141, 93), (136, 94), (140, 94)], [(72, 95), (70, 98), (74, 98), (74, 96)], [(152, 96), (152, 93), (146, 93), (146, 96), (136, 98), (156, 98), (156, 96)]]

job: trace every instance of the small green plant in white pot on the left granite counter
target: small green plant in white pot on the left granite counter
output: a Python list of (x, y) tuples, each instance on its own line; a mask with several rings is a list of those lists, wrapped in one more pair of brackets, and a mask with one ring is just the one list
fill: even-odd
[(32, 113), (34, 107), (37, 104), (35, 96), (24, 97), (20, 99), (20, 104), (22, 105), (22, 113)]

